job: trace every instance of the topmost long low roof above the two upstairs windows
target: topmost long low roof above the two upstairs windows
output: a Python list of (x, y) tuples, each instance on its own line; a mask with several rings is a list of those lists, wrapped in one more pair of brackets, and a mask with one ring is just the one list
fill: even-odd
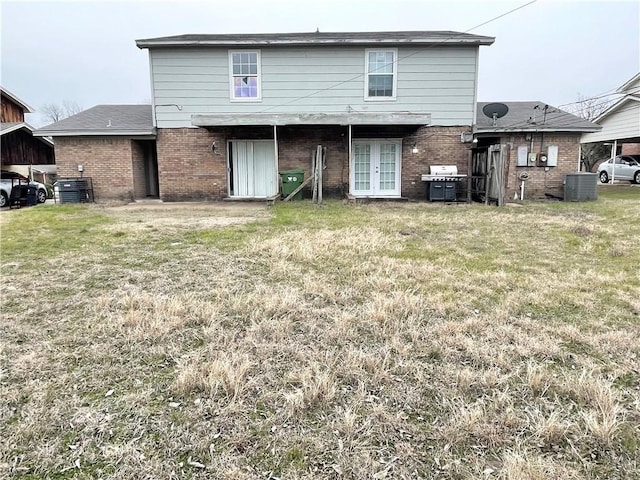
[(189, 34), (136, 40), (138, 48), (291, 45), (491, 45), (494, 37), (452, 31)]

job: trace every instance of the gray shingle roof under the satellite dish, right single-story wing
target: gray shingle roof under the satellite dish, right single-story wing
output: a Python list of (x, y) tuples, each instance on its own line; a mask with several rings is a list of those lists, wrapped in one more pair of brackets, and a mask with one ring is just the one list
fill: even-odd
[[(488, 118), (482, 108), (489, 103), (478, 102), (474, 131), (486, 132), (596, 132), (602, 127), (544, 102), (501, 102), (509, 107), (507, 114), (496, 120)], [(547, 108), (545, 117), (544, 108)]]

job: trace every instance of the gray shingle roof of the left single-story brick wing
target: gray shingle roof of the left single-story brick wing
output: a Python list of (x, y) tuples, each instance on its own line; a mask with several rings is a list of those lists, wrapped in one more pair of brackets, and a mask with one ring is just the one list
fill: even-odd
[(76, 115), (39, 128), (38, 136), (155, 135), (151, 105), (96, 105)]

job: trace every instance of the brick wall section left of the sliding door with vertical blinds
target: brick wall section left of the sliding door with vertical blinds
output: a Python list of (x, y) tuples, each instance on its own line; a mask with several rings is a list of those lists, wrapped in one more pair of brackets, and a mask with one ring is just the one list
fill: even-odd
[[(220, 200), (227, 196), (226, 130), (158, 129), (160, 198)], [(211, 145), (216, 142), (216, 153)]]

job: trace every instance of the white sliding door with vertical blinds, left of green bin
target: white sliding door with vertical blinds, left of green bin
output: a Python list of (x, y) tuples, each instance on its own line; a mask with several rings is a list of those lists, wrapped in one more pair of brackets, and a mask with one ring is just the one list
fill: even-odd
[(231, 142), (230, 191), (233, 197), (266, 198), (278, 192), (272, 140)]

